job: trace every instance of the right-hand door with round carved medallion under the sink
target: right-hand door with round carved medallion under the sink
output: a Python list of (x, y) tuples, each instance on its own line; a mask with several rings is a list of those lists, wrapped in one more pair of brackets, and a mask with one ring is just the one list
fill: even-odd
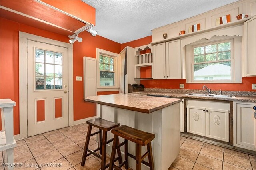
[(206, 137), (229, 142), (228, 110), (206, 108)]

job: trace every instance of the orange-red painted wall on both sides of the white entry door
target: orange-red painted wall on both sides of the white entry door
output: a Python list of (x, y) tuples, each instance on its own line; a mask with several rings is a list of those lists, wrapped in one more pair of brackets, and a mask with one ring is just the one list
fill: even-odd
[[(19, 134), (19, 31), (51, 38), (68, 43), (68, 37), (26, 26), (0, 18), (0, 98), (10, 98), (16, 102), (14, 107), (14, 135)], [(83, 81), (76, 81), (76, 76), (83, 76), (83, 57), (96, 58), (96, 47), (120, 53), (121, 44), (103, 38), (93, 37), (88, 32), (79, 34), (82, 43), (73, 45), (74, 71), (74, 120), (96, 115), (96, 105), (83, 99)]]

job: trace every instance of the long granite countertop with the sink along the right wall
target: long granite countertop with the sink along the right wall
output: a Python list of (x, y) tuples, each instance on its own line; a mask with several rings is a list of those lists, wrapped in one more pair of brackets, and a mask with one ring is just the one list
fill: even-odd
[(256, 102), (256, 96), (236, 96), (236, 98), (220, 98), (220, 97), (204, 97), (204, 96), (188, 96), (188, 93), (172, 93), (164, 91), (134, 91), (133, 94), (142, 95), (162, 95), (170, 97), (178, 97), (182, 99), (210, 99), (210, 100), (221, 100), (221, 101), (243, 101), (243, 102)]

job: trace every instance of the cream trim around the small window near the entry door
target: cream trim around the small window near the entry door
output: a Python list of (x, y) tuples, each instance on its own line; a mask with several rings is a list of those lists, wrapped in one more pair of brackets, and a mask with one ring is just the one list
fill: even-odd
[[(97, 91), (119, 91), (119, 65), (118, 65), (118, 56), (119, 54), (113, 53), (110, 51), (106, 51), (104, 49), (96, 48), (96, 55), (97, 55)], [(107, 55), (110, 57), (114, 57), (114, 86), (100, 86), (100, 55)]]

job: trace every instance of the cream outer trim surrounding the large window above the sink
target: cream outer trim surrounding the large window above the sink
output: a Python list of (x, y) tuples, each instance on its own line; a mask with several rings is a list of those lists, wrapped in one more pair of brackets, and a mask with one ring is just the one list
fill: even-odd
[[(194, 53), (193, 48), (199, 46), (221, 43), (231, 40), (231, 80), (200, 80), (194, 81)], [(210, 40), (200, 40), (186, 45), (186, 83), (242, 83), (242, 37), (241, 36), (214, 36)]]

